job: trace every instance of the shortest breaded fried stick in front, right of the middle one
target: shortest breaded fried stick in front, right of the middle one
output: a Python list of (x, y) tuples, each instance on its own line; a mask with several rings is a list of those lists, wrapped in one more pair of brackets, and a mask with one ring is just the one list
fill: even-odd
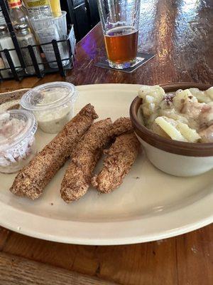
[(136, 160), (139, 146), (140, 143), (134, 133), (116, 138), (114, 144), (107, 150), (102, 171), (92, 177), (92, 185), (102, 193), (109, 193), (119, 187)]

